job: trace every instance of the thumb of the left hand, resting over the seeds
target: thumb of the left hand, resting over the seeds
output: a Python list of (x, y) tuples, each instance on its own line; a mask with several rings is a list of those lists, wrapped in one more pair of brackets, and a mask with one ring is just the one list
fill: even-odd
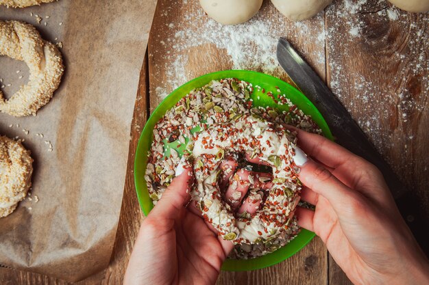
[(187, 204), (191, 196), (189, 189), (193, 182), (193, 174), (190, 167), (184, 168), (184, 172), (173, 179), (170, 186), (164, 191), (152, 212), (155, 217), (175, 219), (177, 212)]

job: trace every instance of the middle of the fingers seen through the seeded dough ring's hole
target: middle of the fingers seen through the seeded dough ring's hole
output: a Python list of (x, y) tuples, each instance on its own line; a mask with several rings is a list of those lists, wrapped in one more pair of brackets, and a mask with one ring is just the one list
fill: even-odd
[(239, 169), (230, 181), (230, 186), (225, 192), (225, 199), (233, 209), (240, 206), (247, 190), (249, 190), (249, 175), (252, 174), (248, 170)]

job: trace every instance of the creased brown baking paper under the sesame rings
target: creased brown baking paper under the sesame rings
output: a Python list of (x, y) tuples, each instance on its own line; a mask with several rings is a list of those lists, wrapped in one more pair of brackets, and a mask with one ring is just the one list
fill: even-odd
[[(69, 281), (107, 267), (155, 7), (156, 0), (0, 6), (1, 20), (26, 21), (42, 38), (62, 42), (66, 66), (60, 88), (36, 117), (0, 113), (0, 134), (25, 139), (34, 158), (32, 201), (0, 219), (0, 264)], [(28, 68), (0, 57), (0, 78), (8, 98), (26, 83)]]

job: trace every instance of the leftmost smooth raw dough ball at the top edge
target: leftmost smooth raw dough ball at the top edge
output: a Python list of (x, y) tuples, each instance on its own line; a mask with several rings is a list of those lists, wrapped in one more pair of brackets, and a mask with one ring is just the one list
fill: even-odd
[(199, 0), (210, 18), (223, 25), (236, 25), (255, 16), (262, 0)]

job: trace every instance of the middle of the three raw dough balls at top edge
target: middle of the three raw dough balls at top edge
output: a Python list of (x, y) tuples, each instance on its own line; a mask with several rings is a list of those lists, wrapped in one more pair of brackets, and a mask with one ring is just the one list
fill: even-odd
[(325, 9), (332, 0), (271, 0), (275, 8), (292, 21), (302, 21)]

